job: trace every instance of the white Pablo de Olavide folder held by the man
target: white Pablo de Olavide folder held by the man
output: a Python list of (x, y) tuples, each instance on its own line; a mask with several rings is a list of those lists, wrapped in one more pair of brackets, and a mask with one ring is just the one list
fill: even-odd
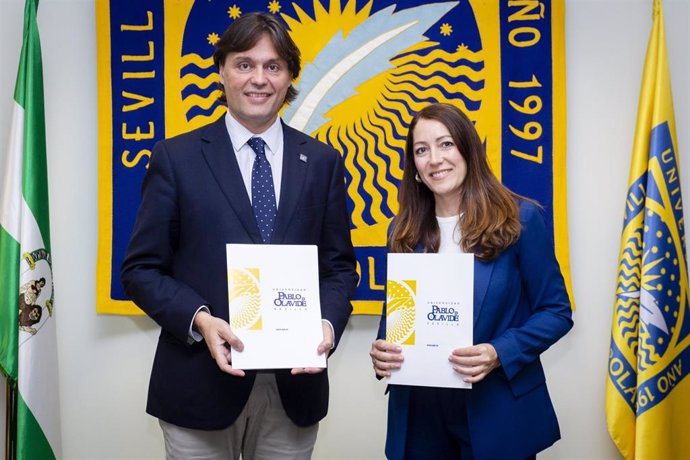
[(326, 367), (316, 246), (228, 244), (230, 327), (244, 343), (236, 369)]

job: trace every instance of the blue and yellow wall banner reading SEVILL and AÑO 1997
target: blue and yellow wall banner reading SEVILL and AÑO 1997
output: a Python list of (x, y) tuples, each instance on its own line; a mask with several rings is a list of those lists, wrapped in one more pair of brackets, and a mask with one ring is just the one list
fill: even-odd
[(141, 313), (125, 295), (119, 269), (153, 145), (225, 113), (214, 44), (233, 20), (256, 10), (282, 20), (302, 52), (300, 94), (283, 120), (345, 160), (361, 276), (355, 313), (381, 312), (386, 229), (398, 210), (407, 124), (431, 102), (465, 111), (503, 183), (544, 206), (570, 286), (563, 0), (98, 0), (96, 6), (99, 313)]

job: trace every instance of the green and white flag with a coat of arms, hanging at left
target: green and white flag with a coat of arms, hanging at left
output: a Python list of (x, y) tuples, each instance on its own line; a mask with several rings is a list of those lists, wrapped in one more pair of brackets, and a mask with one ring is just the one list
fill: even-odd
[[(17, 459), (61, 457), (38, 0), (27, 0), (0, 202), (0, 368)], [(10, 410), (10, 408), (7, 408)]]

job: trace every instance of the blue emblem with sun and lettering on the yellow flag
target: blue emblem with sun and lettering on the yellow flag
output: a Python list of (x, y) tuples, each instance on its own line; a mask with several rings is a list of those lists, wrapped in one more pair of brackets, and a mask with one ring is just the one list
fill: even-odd
[(679, 357), (690, 340), (680, 179), (668, 125), (654, 136), (649, 167), (628, 191), (609, 364), (638, 415), (682, 379)]

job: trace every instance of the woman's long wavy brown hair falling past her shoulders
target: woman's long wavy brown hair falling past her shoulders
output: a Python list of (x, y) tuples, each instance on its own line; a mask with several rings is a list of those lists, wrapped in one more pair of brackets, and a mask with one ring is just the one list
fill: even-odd
[(518, 199), (503, 186), (489, 167), (486, 152), (474, 125), (450, 104), (431, 104), (414, 116), (405, 143), (405, 166), (400, 183), (400, 211), (390, 237), (391, 252), (414, 252), (422, 244), (426, 252), (437, 252), (440, 231), (436, 221), (434, 194), (415, 181), (413, 132), (420, 119), (436, 120), (450, 132), (467, 163), (467, 175), (460, 188), (460, 233), (463, 251), (491, 260), (520, 236)]

